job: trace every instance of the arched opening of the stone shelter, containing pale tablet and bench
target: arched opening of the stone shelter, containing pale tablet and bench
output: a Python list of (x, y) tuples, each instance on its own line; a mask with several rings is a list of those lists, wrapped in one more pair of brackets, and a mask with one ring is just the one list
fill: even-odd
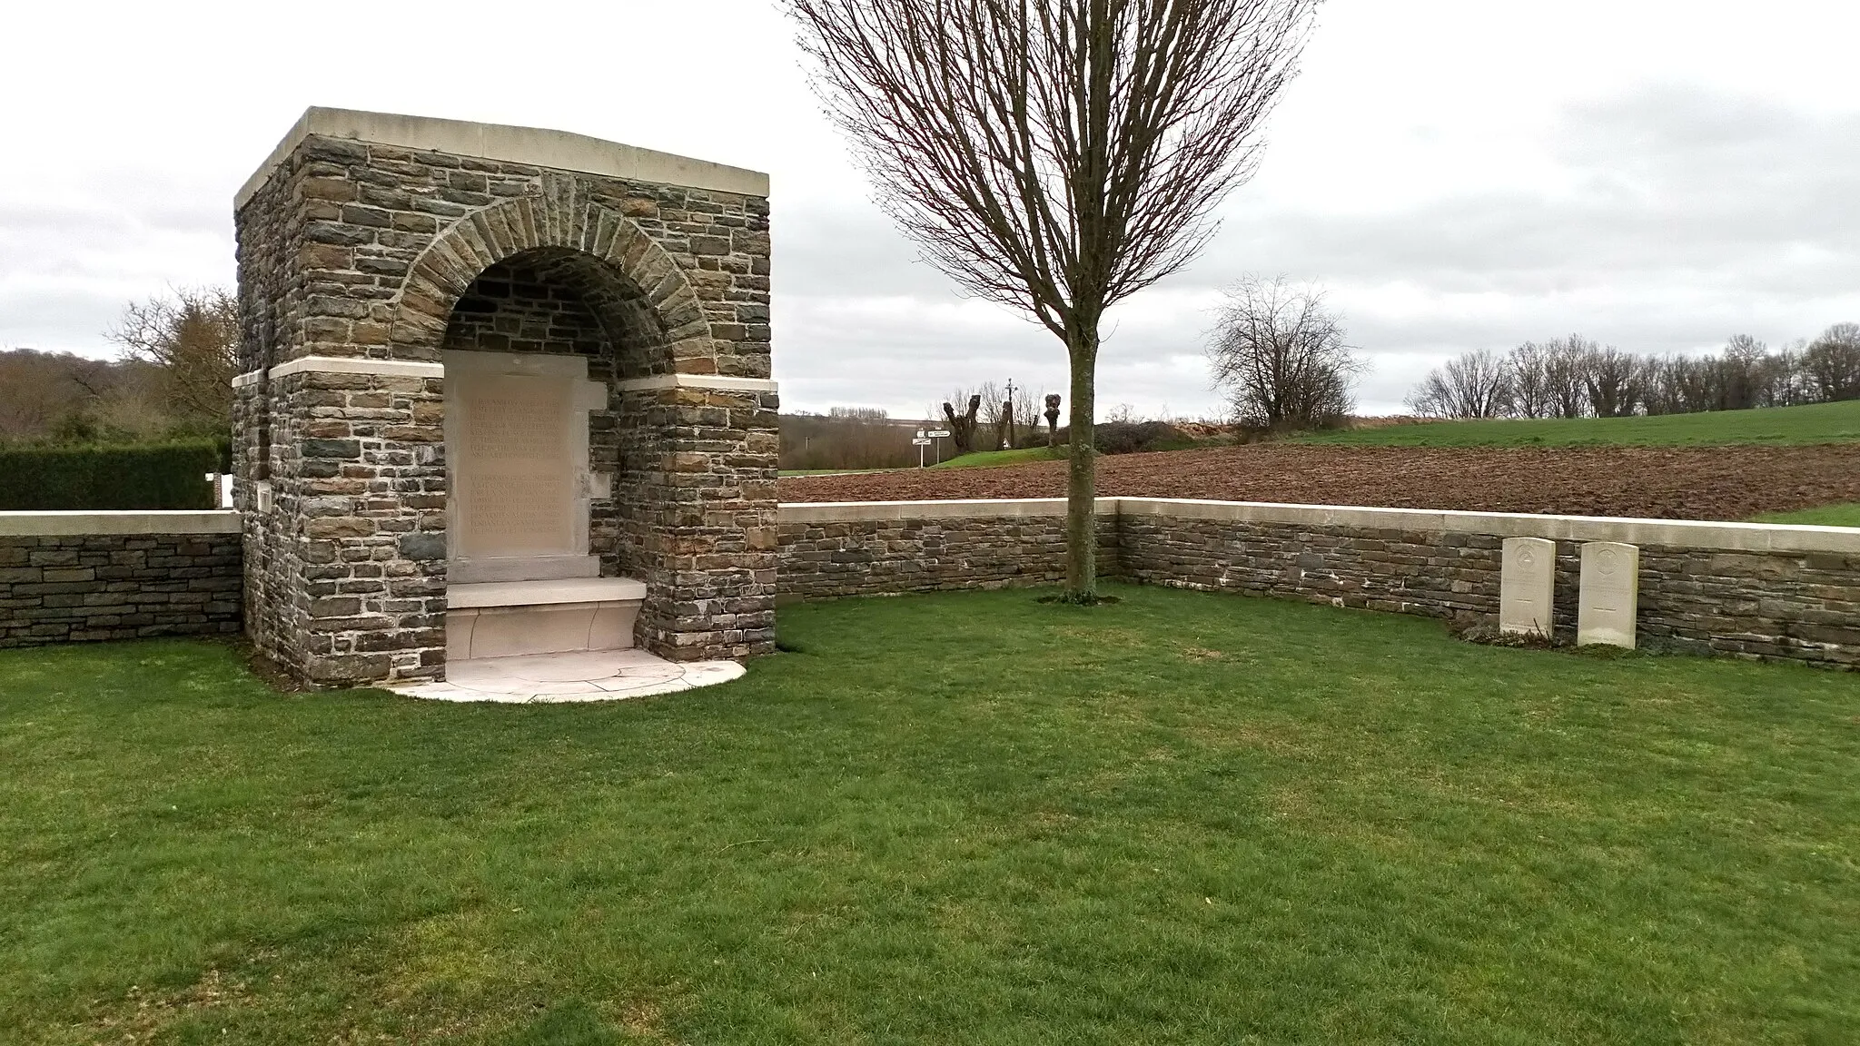
[(645, 581), (614, 491), (647, 434), (612, 400), (664, 344), (645, 292), (586, 251), (517, 251), (452, 305), (448, 659), (634, 646)]

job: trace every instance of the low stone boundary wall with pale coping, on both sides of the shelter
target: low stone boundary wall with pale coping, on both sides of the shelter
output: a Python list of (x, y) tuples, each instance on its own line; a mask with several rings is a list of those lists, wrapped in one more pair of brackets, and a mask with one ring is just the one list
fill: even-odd
[[(783, 504), (785, 601), (1056, 584), (1066, 503)], [(1110, 579), (1492, 625), (1505, 538), (1557, 542), (1574, 633), (1583, 542), (1641, 547), (1646, 646), (1860, 668), (1860, 530), (1587, 516), (1097, 501)], [(0, 512), (0, 648), (240, 631), (238, 512)]]

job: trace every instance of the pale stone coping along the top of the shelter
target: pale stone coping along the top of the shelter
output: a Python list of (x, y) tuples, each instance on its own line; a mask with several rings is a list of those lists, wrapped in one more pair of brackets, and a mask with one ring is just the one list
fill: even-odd
[(768, 195), (768, 175), (761, 171), (603, 141), (567, 130), (311, 106), (303, 110), (303, 115), (264, 164), (259, 164), (259, 169), (240, 186), (238, 195), (232, 197), (232, 210), (246, 207), (246, 201), (270, 181), (272, 171), (311, 136), (376, 141), (422, 153), (506, 160), (640, 182)]

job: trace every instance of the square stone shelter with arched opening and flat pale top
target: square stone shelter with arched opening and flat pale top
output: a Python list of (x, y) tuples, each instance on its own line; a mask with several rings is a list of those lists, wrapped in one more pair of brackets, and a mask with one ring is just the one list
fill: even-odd
[(236, 233), (264, 655), (342, 685), (774, 648), (766, 175), (311, 108)]

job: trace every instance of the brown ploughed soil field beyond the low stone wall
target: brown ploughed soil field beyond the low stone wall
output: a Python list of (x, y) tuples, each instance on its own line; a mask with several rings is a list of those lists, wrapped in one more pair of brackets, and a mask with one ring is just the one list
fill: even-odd
[[(1099, 458), (1107, 497), (1748, 519), (1860, 501), (1860, 445), (1298, 447), (1267, 443)], [(787, 476), (781, 501), (1064, 497), (1066, 463)]]

